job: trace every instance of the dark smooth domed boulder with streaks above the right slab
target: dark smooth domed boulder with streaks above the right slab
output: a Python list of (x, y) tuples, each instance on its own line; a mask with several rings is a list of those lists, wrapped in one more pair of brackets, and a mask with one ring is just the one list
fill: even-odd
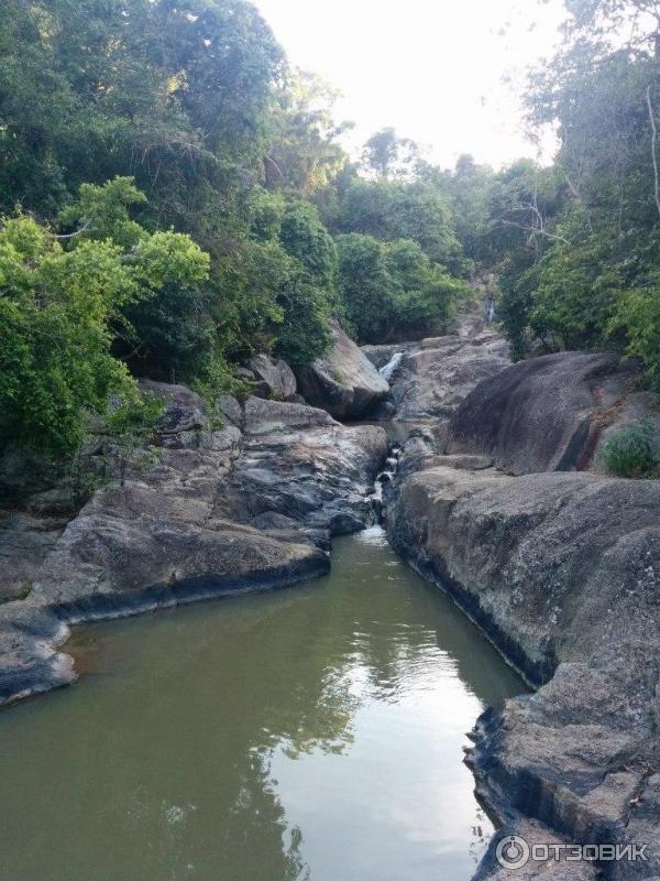
[(513, 474), (595, 465), (603, 428), (617, 422), (639, 373), (613, 354), (560, 352), (481, 382), (452, 416), (447, 452), (493, 456)]

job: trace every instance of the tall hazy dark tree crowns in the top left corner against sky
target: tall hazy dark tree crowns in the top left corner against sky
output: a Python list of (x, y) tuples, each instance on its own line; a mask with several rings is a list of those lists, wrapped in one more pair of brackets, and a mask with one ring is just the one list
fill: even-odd
[(0, 210), (131, 173), (190, 232), (258, 167), (283, 64), (242, 0), (8, 0), (0, 56)]

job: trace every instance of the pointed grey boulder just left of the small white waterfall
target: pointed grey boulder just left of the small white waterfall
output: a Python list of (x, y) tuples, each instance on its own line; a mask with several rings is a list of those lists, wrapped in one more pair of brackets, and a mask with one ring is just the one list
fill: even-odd
[(305, 400), (338, 420), (362, 418), (389, 394), (387, 382), (337, 320), (329, 351), (298, 368), (297, 379)]

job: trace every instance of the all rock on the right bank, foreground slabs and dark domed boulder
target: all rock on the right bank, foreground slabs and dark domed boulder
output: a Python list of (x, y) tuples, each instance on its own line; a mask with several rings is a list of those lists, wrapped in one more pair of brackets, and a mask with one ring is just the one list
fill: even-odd
[[(638, 387), (610, 355), (494, 371), (408, 442), (387, 493), (393, 545), (538, 687), (473, 732), (477, 792), (504, 824), (480, 879), (660, 873), (660, 482), (608, 477), (600, 459), (617, 426), (645, 414), (660, 427)], [(648, 860), (507, 870), (495, 850), (510, 835), (648, 845)]]

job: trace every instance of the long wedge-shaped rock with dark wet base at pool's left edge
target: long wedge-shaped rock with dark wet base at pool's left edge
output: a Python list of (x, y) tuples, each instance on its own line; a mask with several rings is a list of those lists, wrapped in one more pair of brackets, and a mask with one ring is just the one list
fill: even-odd
[[(169, 607), (324, 574), (324, 554), (257, 530), (90, 510), (46, 559), (33, 601), (68, 622)], [(169, 511), (167, 511), (169, 513)], [(125, 514), (125, 511), (124, 511)]]

